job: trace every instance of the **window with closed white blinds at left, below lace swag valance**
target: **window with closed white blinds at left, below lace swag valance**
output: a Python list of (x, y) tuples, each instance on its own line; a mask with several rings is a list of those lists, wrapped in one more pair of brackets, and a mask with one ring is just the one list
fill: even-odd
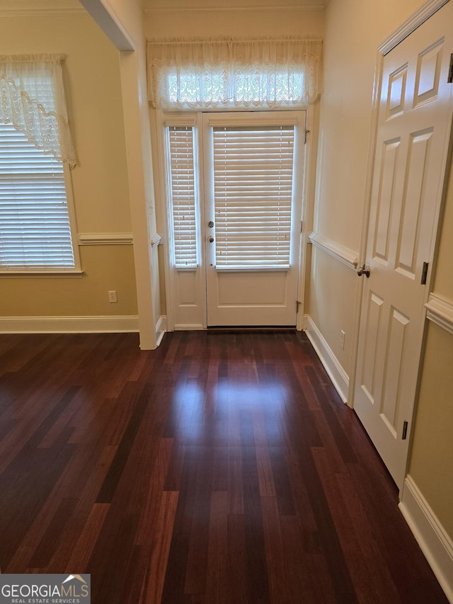
[(0, 271), (74, 268), (62, 162), (0, 124)]

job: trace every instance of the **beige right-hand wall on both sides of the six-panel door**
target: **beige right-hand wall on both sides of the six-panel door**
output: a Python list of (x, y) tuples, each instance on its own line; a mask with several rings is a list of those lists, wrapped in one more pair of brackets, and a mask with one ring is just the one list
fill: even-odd
[[(316, 230), (355, 251), (360, 249), (377, 48), (421, 4), (419, 0), (331, 0), (326, 11)], [(450, 183), (434, 287), (449, 300), (453, 300), (452, 257)], [(345, 274), (338, 265), (321, 250), (313, 253), (309, 314), (350, 373), (351, 362), (338, 351), (338, 340), (340, 329), (352, 324), (355, 288), (360, 283), (352, 270)], [(326, 309), (329, 293), (336, 300), (335, 312)], [(409, 473), (453, 538), (453, 336), (434, 324), (427, 329)]]

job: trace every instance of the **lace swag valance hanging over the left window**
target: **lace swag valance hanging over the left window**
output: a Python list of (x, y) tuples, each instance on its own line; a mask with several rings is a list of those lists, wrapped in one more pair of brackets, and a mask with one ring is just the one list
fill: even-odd
[(76, 156), (69, 130), (61, 55), (0, 55), (0, 122), (12, 123), (38, 149), (67, 161)]

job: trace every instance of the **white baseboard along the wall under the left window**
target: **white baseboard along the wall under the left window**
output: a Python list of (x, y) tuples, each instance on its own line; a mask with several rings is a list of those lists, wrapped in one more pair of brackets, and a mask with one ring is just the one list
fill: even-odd
[(0, 317), (0, 334), (117, 334), (139, 331), (132, 317)]

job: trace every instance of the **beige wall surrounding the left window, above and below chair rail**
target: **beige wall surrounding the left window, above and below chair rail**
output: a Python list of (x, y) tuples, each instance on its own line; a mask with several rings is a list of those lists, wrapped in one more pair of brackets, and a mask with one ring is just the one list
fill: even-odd
[[(0, 20), (0, 52), (63, 53), (79, 165), (71, 171), (80, 233), (131, 232), (118, 52), (80, 11)], [(0, 317), (137, 315), (132, 246), (81, 246), (81, 278), (0, 278)], [(117, 290), (117, 304), (108, 302)]]

